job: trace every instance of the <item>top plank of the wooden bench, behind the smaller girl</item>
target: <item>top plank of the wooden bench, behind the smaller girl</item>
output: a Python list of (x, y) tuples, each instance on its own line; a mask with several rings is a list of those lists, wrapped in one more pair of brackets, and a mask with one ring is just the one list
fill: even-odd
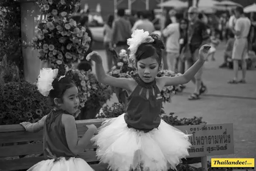
[[(83, 126), (83, 125), (96, 125), (100, 126), (103, 121), (106, 119), (87, 119), (87, 120), (77, 120), (76, 125), (77, 127)], [(25, 129), (20, 125), (0, 125), (0, 133), (2, 132), (13, 132), (13, 131), (25, 131)]]

